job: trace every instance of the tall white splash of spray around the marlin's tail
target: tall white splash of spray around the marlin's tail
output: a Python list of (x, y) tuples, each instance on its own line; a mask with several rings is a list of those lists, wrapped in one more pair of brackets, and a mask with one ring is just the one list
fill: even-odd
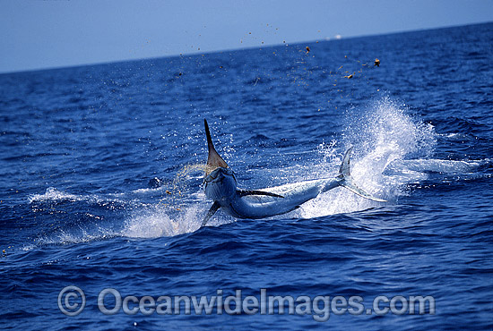
[[(349, 146), (355, 148), (351, 175), (359, 187), (390, 203), (406, 194), (407, 183), (422, 181), (427, 175), (422, 172), (423, 167), (413, 171), (401, 166), (401, 171), (393, 175), (387, 174), (386, 170), (402, 165), (410, 158), (430, 157), (437, 143), (433, 126), (414, 120), (406, 111), (389, 97), (373, 102), (363, 111), (350, 109), (340, 142), (345, 147), (343, 150)], [(319, 147), (318, 151), (323, 155), (323, 160), (315, 167), (319, 178), (333, 176), (341, 163), (342, 157), (338, 155), (342, 154), (335, 152), (336, 145), (332, 142)], [(382, 203), (360, 198), (340, 188), (308, 201), (297, 211), (297, 216), (326, 216), (381, 206)]]

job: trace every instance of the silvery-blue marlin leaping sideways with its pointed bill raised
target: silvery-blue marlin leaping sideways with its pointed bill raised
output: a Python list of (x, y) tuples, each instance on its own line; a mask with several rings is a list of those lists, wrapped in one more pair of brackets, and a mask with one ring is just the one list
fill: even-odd
[(238, 189), (235, 173), (214, 148), (209, 124), (205, 119), (203, 123), (209, 149), (204, 177), (205, 196), (214, 203), (203, 218), (201, 226), (206, 225), (219, 208), (229, 216), (237, 218), (266, 218), (289, 213), (320, 193), (339, 186), (363, 198), (385, 202), (385, 199), (372, 197), (354, 183), (350, 176), (352, 147), (346, 151), (339, 174), (333, 178), (293, 182), (261, 190)]

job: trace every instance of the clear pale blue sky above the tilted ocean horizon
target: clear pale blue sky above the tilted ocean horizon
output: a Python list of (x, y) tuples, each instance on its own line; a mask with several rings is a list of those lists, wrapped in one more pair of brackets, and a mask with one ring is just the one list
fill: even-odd
[(493, 0), (0, 0), (0, 72), (486, 21)]

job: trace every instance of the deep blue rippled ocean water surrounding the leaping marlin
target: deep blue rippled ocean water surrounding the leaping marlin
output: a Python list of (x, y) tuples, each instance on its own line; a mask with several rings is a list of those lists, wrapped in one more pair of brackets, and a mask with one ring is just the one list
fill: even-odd
[[(1, 328), (492, 329), (492, 45), (487, 23), (0, 75)], [(331, 177), (354, 146), (355, 181), (388, 202), (338, 188), (199, 228), (204, 118), (243, 188)], [(107, 288), (365, 310), (106, 315)], [(435, 311), (367, 313), (378, 296)]]

